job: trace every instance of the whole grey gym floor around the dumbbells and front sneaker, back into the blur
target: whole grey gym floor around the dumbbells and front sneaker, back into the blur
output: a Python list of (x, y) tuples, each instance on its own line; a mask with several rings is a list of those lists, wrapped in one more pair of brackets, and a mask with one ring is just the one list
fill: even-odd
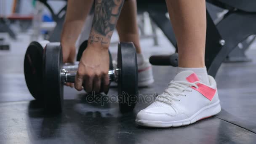
[[(160, 32), (158, 39), (159, 46), (152, 46), (151, 39), (141, 40), (146, 56), (174, 51)], [(256, 144), (256, 43), (246, 52), (251, 62), (221, 65), (216, 75), (222, 106), (218, 115), (165, 129), (135, 124), (136, 113), (149, 103), (141, 101), (134, 112), (121, 114), (117, 102), (104, 103), (108, 96), (101, 103), (88, 103), (84, 91), (68, 87), (64, 88), (63, 113), (45, 115), (24, 80), (28, 44), (29, 36), (20, 34), (10, 51), (0, 51), (0, 144)], [(114, 47), (110, 49), (113, 57)], [(162, 93), (176, 68), (153, 66), (153, 72), (155, 83), (139, 89), (139, 97), (152, 100)], [(117, 88), (111, 88), (110, 95), (117, 95)]]

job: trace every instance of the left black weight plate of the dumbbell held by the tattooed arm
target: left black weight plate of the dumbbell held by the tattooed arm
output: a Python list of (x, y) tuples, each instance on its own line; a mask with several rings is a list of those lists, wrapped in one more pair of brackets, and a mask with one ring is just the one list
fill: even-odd
[(62, 50), (60, 43), (48, 43), (43, 53), (43, 95), (45, 111), (59, 113), (63, 105), (61, 83)]

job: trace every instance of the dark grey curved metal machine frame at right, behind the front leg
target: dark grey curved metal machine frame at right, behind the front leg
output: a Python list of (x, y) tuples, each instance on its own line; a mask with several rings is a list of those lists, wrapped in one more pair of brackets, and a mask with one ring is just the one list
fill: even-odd
[(226, 43), (219, 53), (216, 54), (215, 59), (213, 59), (211, 67), (208, 69), (209, 74), (215, 76), (221, 63), (236, 48), (238, 43), (256, 34), (255, 26), (256, 13), (246, 13), (243, 11), (230, 13), (216, 25), (221, 37), (223, 37)]

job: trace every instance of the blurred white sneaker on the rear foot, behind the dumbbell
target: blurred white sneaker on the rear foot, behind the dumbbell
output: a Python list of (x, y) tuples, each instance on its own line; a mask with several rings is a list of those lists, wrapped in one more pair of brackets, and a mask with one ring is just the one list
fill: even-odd
[[(114, 69), (117, 68), (117, 61), (113, 60)], [(152, 67), (149, 61), (144, 60), (144, 63), (138, 65), (138, 86), (146, 87), (154, 83)], [(113, 86), (113, 85), (112, 85)]]

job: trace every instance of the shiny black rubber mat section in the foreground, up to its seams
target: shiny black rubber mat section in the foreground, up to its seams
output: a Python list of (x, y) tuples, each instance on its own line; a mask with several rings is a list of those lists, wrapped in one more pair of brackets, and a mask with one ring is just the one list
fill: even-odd
[(135, 113), (120, 114), (117, 104), (65, 100), (61, 115), (44, 115), (34, 102), (0, 103), (1, 144), (250, 144), (256, 140), (255, 133), (216, 117), (179, 128), (144, 128), (135, 125)]

